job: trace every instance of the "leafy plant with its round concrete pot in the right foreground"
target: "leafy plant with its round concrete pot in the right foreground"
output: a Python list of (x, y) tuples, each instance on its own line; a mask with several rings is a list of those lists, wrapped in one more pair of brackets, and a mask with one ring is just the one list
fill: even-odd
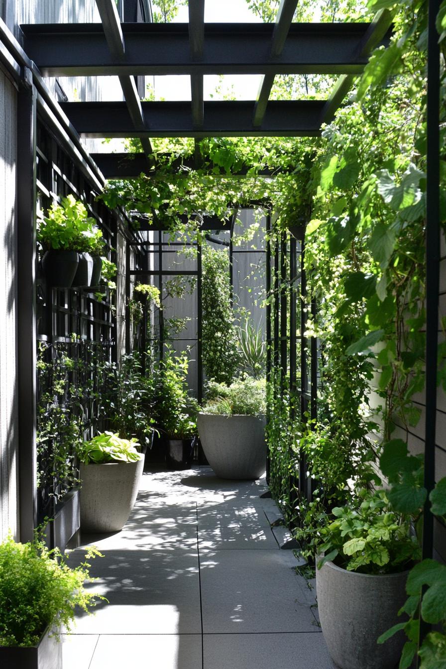
[[(398, 622), (409, 569), (419, 557), (410, 517), (393, 510), (385, 490), (362, 490), (357, 507), (332, 509), (320, 529), (316, 590), (328, 651), (341, 669), (394, 669), (403, 635), (377, 640)], [(403, 626), (402, 626), (403, 627)]]

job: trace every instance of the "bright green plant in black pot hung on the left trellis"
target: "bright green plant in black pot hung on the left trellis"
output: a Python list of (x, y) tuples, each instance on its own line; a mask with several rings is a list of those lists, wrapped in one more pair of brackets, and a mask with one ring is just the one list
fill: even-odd
[[(39, 222), (37, 241), (45, 251), (42, 268), (51, 286), (70, 288), (76, 283), (80, 254), (88, 250), (90, 239), (102, 236), (94, 223), (94, 219), (87, 216), (86, 207), (73, 195), (64, 197), (60, 205), (51, 205), (43, 221)], [(88, 270), (88, 258), (83, 260)], [(80, 278), (84, 280), (84, 277)]]

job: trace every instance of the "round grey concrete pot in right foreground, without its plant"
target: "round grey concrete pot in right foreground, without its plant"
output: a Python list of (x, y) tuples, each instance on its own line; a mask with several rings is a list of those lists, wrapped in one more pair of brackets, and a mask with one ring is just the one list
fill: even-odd
[(340, 669), (394, 669), (406, 638), (398, 632), (376, 640), (393, 625), (407, 599), (408, 571), (368, 575), (326, 562), (316, 569), (318, 612), (328, 652)]

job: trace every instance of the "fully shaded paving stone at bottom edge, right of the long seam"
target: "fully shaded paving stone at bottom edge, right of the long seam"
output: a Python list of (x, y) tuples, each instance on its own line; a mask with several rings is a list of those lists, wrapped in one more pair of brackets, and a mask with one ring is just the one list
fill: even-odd
[(336, 669), (320, 632), (205, 634), (203, 669)]

